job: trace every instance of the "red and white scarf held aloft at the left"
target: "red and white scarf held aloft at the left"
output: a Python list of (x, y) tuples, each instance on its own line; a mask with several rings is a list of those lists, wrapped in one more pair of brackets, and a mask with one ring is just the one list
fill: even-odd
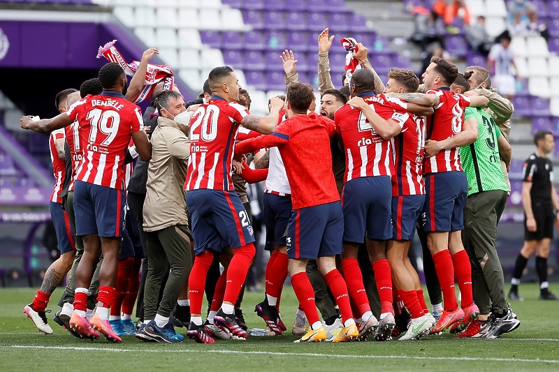
[[(140, 66), (140, 62), (132, 61), (131, 64), (127, 64), (122, 54), (120, 54), (117, 47), (115, 47), (115, 43), (117, 40), (112, 40), (109, 43), (106, 43), (102, 47), (99, 47), (99, 52), (97, 53), (97, 58), (105, 57), (110, 62), (116, 62), (122, 68), (124, 68), (124, 72), (126, 75), (133, 76), (134, 73), (138, 70), (138, 66)], [(145, 73), (145, 80), (142, 91), (138, 94), (138, 97), (134, 100), (134, 103), (138, 104), (144, 101), (153, 93), (155, 86), (163, 81), (164, 82), (164, 90), (171, 90), (173, 89), (173, 85), (175, 84), (175, 77), (173, 77), (173, 71), (167, 65), (147, 65), (147, 71)]]

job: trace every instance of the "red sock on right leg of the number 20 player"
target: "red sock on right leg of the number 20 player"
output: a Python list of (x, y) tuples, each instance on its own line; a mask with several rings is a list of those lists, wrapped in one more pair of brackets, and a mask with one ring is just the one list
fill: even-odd
[(223, 296), (223, 301), (231, 302), (231, 304), (237, 302), (242, 285), (245, 285), (250, 264), (256, 254), (256, 248), (252, 243), (249, 243), (235, 248), (233, 252), (233, 258), (231, 258), (227, 269), (227, 285)]

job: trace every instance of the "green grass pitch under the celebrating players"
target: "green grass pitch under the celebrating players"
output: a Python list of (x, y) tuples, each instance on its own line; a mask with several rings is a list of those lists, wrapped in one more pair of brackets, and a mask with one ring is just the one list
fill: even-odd
[[(559, 292), (559, 285), (551, 285)], [(523, 284), (523, 302), (513, 311), (521, 326), (497, 340), (457, 339), (445, 333), (420, 341), (295, 344), (291, 335), (296, 297), (286, 287), (283, 336), (251, 337), (197, 345), (143, 343), (125, 336), (120, 344), (74, 338), (54, 321), (61, 290), (52, 296), (49, 324), (55, 334), (36, 331), (23, 313), (34, 290), (0, 289), (0, 371), (559, 371), (559, 302), (537, 300), (537, 285)], [(249, 327), (263, 328), (252, 312), (262, 293), (243, 302)], [(184, 328), (177, 328), (184, 334)]]

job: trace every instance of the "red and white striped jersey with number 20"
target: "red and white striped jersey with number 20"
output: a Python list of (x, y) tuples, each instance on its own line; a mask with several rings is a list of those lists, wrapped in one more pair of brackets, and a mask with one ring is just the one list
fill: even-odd
[(247, 109), (212, 96), (190, 119), (190, 156), (184, 188), (233, 190), (231, 162), (235, 138)]

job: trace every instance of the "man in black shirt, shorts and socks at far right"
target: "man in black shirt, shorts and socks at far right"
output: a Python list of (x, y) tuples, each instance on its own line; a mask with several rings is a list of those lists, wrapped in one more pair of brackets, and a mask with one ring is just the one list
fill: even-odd
[(524, 246), (522, 247), (511, 279), (509, 298), (522, 301), (518, 285), (522, 271), (530, 256), (536, 253), (536, 271), (539, 276), (539, 299), (558, 300), (549, 292), (547, 283), (547, 258), (553, 238), (553, 222), (559, 211), (559, 202), (553, 186), (553, 164), (547, 154), (553, 151), (553, 133), (538, 131), (534, 135), (536, 152), (525, 161), (522, 170), (522, 198), (524, 207)]

